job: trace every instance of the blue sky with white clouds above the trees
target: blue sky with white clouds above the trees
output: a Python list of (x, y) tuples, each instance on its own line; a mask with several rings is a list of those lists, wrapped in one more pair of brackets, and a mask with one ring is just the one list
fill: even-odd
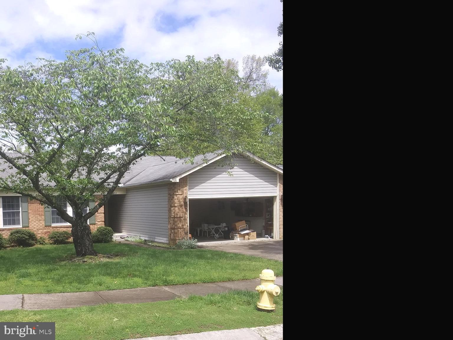
[[(76, 34), (95, 32), (105, 49), (124, 48), (142, 63), (219, 54), (239, 60), (279, 47), (279, 0), (14, 0), (0, 10), (0, 58), (11, 67), (92, 45)], [(283, 92), (283, 71), (269, 68)]]

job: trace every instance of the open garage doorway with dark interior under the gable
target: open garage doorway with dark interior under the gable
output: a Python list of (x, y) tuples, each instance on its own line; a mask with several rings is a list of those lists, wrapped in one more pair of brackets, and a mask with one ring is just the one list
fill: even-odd
[[(189, 233), (198, 242), (230, 240), (231, 224), (244, 220), (256, 238), (272, 236), (274, 232), (274, 197), (249, 197), (230, 199), (189, 199)], [(202, 224), (221, 226), (207, 231)], [(215, 238), (213, 233), (218, 234)], [(223, 233), (223, 235), (222, 235)]]

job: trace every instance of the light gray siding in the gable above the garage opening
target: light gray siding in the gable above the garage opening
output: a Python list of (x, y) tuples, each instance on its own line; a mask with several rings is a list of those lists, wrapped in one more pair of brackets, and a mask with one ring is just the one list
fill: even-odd
[[(222, 160), (221, 160), (222, 161)], [(218, 162), (206, 165), (189, 175), (188, 197), (258, 197), (277, 195), (277, 174), (245, 157), (238, 157), (236, 166), (220, 167)], [(227, 174), (230, 171), (231, 175)]]

